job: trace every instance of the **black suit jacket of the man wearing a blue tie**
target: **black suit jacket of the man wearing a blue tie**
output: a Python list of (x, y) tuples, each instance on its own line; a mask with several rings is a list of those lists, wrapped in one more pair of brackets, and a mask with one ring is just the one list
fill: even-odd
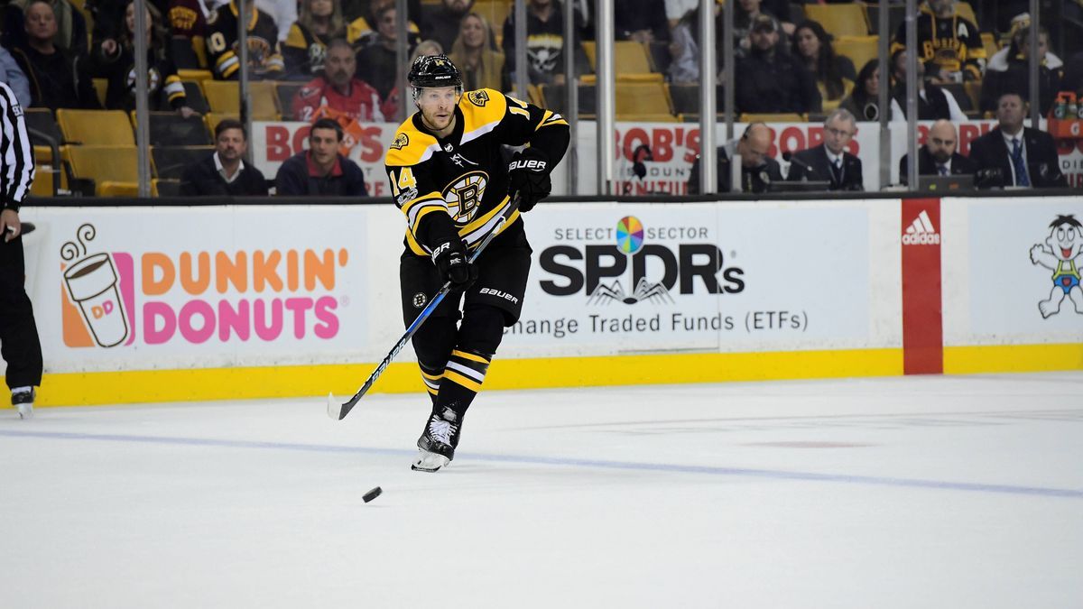
[[(1053, 135), (1045, 131), (1023, 128), (1027, 148), (1027, 173), (1035, 189), (1066, 187), (1068, 180), (1060, 173), (1060, 158)], [(1013, 186), (1012, 155), (1004, 134), (997, 127), (970, 143), (970, 160), (977, 167), (979, 187)]]

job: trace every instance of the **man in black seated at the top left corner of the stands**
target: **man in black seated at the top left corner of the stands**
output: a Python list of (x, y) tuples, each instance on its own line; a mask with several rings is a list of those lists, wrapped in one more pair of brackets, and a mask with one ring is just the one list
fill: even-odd
[(26, 46), (12, 55), (30, 81), (30, 106), (101, 108), (87, 69), (87, 57), (70, 54), (53, 42), (56, 18), (52, 4), (35, 0), (26, 7)]

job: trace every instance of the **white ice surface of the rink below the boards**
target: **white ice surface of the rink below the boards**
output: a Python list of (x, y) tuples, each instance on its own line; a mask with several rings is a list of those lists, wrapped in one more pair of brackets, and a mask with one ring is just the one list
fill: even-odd
[(0, 608), (1079, 608), (1081, 393), (493, 391), (434, 475), (419, 394), (3, 410)]

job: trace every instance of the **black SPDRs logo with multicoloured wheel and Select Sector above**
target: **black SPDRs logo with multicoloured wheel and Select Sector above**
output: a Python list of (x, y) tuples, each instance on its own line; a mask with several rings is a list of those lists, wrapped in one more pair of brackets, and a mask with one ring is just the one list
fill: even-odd
[[(722, 250), (706, 241), (707, 226), (647, 226), (626, 216), (616, 225), (557, 230), (564, 242), (610, 241), (612, 245), (553, 245), (539, 256), (554, 278), (540, 281), (552, 296), (584, 294), (588, 304), (670, 304), (675, 295), (738, 294), (744, 271), (726, 267)], [(661, 243), (652, 243), (661, 242)]]

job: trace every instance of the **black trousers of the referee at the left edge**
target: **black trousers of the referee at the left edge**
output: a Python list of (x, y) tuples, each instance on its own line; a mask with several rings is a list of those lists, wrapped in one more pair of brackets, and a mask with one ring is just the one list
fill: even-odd
[(8, 387), (41, 385), (41, 341), (25, 278), (23, 237), (0, 237), (0, 355), (8, 362)]

